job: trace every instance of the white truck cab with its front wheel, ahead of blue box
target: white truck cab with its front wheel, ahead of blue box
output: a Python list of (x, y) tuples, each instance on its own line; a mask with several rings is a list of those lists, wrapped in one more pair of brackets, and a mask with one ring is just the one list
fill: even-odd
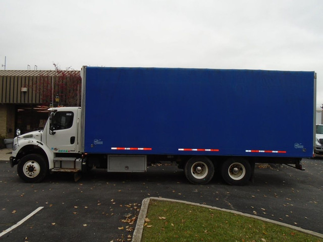
[(43, 130), (14, 139), (10, 163), (18, 165), (19, 176), (27, 182), (39, 182), (49, 171), (81, 171), (81, 108), (49, 108)]

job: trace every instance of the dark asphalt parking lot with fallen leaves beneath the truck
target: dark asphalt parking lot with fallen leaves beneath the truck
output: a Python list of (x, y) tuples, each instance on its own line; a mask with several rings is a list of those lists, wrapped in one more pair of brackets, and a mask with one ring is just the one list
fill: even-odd
[(191, 185), (174, 165), (151, 166), (147, 173), (107, 173), (93, 169), (74, 181), (52, 174), (26, 184), (17, 167), (0, 161), (0, 231), (37, 211), (1, 241), (130, 241), (141, 202), (163, 197), (258, 215), (323, 233), (323, 160), (305, 159), (305, 171), (286, 165), (256, 167), (254, 183), (226, 185), (215, 177)]

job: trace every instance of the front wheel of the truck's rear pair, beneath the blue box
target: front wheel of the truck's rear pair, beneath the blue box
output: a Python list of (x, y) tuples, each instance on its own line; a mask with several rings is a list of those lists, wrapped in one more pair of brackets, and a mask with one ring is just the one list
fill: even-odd
[(185, 164), (185, 176), (192, 184), (204, 185), (209, 183), (214, 175), (214, 166), (207, 157), (192, 157)]

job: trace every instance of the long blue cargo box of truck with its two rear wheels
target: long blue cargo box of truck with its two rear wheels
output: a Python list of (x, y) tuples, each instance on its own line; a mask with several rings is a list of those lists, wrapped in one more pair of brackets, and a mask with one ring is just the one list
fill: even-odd
[(313, 155), (315, 86), (315, 72), (83, 67), (83, 149), (112, 166), (174, 157), (196, 184), (214, 165), (237, 185), (257, 162), (301, 169)]

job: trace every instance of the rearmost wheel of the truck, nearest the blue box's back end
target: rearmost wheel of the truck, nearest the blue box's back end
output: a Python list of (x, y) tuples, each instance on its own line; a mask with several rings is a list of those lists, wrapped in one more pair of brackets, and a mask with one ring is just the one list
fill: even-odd
[(222, 164), (222, 177), (229, 185), (242, 186), (248, 183), (251, 177), (251, 165), (244, 158), (229, 158)]

